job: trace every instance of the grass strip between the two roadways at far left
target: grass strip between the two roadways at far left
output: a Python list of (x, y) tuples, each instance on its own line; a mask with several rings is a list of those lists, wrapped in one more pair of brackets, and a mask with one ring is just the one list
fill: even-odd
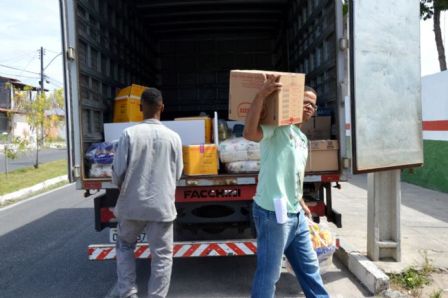
[(11, 171), (8, 175), (0, 173), (0, 195), (33, 186), (45, 180), (67, 174), (67, 161), (58, 160), (33, 167)]

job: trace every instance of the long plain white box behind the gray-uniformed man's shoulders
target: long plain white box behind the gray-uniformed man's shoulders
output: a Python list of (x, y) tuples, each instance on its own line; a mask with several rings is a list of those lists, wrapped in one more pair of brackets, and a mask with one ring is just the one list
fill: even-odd
[[(118, 140), (125, 128), (138, 123), (139, 122), (105, 123), (104, 140), (106, 142)], [(182, 145), (204, 144), (205, 142), (203, 120), (162, 121), (162, 124), (179, 134)]]

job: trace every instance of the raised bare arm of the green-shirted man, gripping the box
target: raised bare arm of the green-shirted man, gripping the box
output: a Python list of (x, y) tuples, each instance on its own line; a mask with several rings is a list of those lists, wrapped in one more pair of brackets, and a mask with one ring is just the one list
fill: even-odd
[(254, 142), (259, 142), (263, 139), (263, 131), (260, 126), (260, 115), (263, 110), (265, 99), (273, 92), (281, 89), (282, 84), (278, 83), (279, 78), (280, 76), (267, 75), (263, 87), (252, 101), (244, 125), (243, 137), (245, 139)]

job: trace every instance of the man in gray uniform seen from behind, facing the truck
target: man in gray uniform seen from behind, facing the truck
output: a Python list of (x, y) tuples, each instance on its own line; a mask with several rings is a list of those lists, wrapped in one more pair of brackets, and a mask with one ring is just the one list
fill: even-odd
[(151, 251), (148, 297), (166, 297), (173, 263), (176, 181), (183, 169), (177, 133), (160, 122), (162, 94), (147, 88), (141, 97), (144, 121), (124, 130), (113, 163), (112, 181), (120, 189), (117, 274), (120, 297), (137, 297), (134, 249), (145, 231)]

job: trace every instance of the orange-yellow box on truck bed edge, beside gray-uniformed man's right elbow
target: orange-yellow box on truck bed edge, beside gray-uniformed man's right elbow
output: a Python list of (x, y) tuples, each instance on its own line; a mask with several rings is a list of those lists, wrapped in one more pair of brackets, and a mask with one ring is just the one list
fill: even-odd
[(214, 144), (183, 146), (184, 174), (217, 175), (218, 150)]

